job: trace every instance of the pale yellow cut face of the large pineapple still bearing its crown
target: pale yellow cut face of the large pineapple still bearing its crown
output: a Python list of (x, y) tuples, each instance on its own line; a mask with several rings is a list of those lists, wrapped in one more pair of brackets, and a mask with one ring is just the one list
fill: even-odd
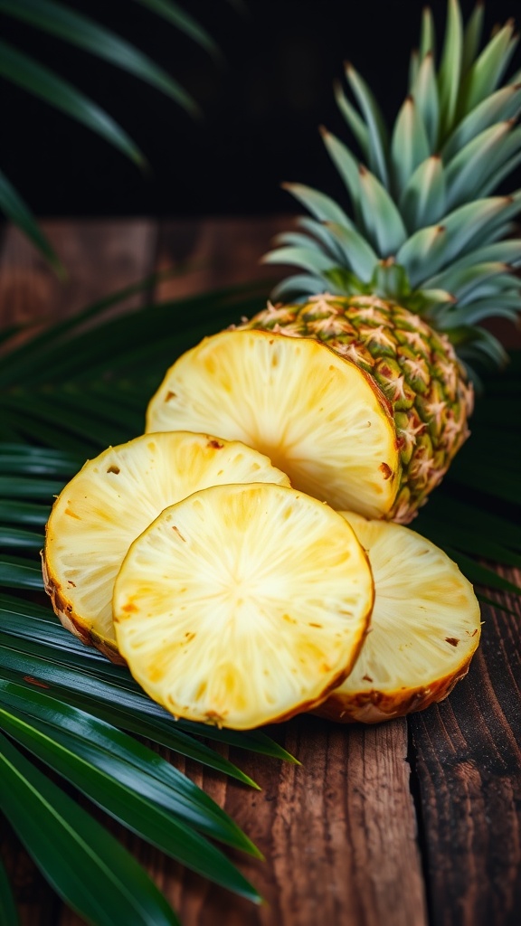
[(400, 487), (392, 413), (369, 377), (311, 338), (254, 330), (206, 338), (151, 399), (147, 431), (211, 430), (256, 447), (335, 508), (385, 517)]

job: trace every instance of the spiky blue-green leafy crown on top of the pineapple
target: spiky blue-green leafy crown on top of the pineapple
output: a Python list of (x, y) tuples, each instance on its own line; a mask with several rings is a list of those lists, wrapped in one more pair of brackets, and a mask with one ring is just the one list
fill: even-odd
[(429, 8), (413, 52), (408, 94), (391, 132), (358, 72), (340, 84), (337, 105), (362, 161), (322, 130), (327, 152), (349, 194), (350, 215), (330, 196), (285, 184), (311, 213), (298, 232), (275, 239), (264, 261), (304, 272), (281, 282), (275, 298), (306, 298), (325, 289), (373, 293), (423, 315), (448, 334), (470, 371), (476, 359), (501, 365), (499, 341), (479, 325), (521, 310), (521, 240), (513, 219), (521, 190), (493, 195), (521, 162), (521, 70), (502, 82), (517, 44), (514, 22), (494, 31), (482, 51), (484, 9), (464, 24), (458, 0), (448, 0), (439, 61)]

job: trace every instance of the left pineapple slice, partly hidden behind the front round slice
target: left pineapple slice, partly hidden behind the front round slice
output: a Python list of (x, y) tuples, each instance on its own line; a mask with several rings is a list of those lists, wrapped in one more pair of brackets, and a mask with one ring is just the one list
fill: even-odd
[(130, 544), (163, 508), (224, 482), (289, 485), (267, 457), (208, 434), (144, 434), (85, 463), (59, 494), (45, 529), (45, 590), (63, 625), (123, 661), (111, 600)]

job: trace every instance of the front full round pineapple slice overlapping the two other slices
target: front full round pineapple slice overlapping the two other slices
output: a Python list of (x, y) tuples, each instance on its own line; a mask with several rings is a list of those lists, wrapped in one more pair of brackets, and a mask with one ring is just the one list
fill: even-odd
[(373, 605), (347, 521), (280, 485), (165, 509), (115, 582), (121, 654), (177, 717), (248, 730), (314, 707), (348, 674)]

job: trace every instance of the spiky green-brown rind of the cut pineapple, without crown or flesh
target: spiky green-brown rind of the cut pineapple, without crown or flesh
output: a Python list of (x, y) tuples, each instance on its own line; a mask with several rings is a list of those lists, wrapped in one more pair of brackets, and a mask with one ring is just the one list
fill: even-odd
[(240, 327), (314, 338), (372, 377), (392, 405), (400, 449), (400, 487), (388, 518), (409, 523), (470, 433), (473, 388), (449, 339), (375, 295), (268, 303)]

